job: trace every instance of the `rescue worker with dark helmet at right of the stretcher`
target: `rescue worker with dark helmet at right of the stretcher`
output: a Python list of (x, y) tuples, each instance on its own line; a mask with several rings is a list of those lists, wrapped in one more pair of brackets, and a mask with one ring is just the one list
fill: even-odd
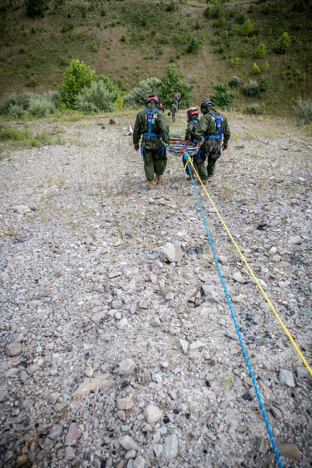
[[(204, 185), (212, 181), (216, 161), (221, 156), (221, 149), (222, 151), (227, 150), (227, 142), (231, 138), (230, 126), (227, 119), (214, 109), (214, 103), (214, 99), (210, 97), (205, 99), (200, 106), (203, 116), (199, 121), (194, 136), (197, 146), (203, 140), (203, 144), (200, 146), (197, 154), (198, 170), (196, 169), (196, 172)], [(207, 167), (204, 164), (206, 160)], [(200, 181), (197, 180), (197, 183), (200, 184)]]

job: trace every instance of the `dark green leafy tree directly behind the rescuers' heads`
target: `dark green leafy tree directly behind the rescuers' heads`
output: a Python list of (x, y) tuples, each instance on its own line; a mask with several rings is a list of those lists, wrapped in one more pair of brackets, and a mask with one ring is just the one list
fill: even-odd
[(178, 73), (174, 64), (167, 65), (164, 77), (160, 80), (158, 94), (160, 101), (166, 108), (171, 107), (173, 96), (176, 91), (179, 91), (181, 94), (181, 105), (183, 109), (187, 109), (192, 105), (192, 91), (194, 85), (188, 85), (183, 78), (183, 73)]

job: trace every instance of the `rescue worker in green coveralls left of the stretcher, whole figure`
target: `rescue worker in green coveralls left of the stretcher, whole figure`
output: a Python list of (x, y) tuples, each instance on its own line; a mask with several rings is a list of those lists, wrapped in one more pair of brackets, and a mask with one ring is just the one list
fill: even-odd
[[(141, 140), (141, 154), (144, 161), (146, 188), (151, 190), (156, 183), (162, 184), (162, 176), (167, 165), (166, 146), (170, 143), (169, 127), (162, 110), (159, 109), (159, 99), (156, 95), (147, 98), (146, 109), (138, 112), (133, 129), (133, 146), (136, 151)], [(155, 179), (154, 179), (154, 174)]]

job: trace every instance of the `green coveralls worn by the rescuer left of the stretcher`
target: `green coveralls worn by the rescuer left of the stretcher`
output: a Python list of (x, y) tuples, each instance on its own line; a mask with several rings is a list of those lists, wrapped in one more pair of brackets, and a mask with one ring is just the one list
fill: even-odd
[[(157, 106), (154, 102), (148, 103), (147, 108), (150, 112), (152, 112), (155, 107)], [(153, 115), (151, 131), (152, 133), (160, 134), (164, 143), (169, 145), (170, 137), (167, 119), (159, 109), (157, 109)], [(133, 129), (133, 143), (138, 143), (142, 133), (144, 132), (148, 132), (148, 121), (145, 109), (138, 112)], [(144, 148), (142, 147), (142, 144)], [(149, 181), (153, 180), (154, 174), (156, 174), (156, 176), (161, 176), (166, 169), (167, 155), (165, 148), (164, 155), (161, 156), (162, 143), (160, 139), (145, 140), (145, 137), (143, 136), (141, 140), (141, 147), (143, 149), (143, 161), (146, 179)]]

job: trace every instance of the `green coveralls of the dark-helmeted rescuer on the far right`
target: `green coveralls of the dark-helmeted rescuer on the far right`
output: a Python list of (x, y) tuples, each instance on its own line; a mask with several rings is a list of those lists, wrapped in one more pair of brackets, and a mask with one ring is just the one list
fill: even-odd
[[(218, 112), (215, 109), (212, 109), (211, 107), (209, 108), (209, 111), (211, 111), (215, 115), (218, 115)], [(201, 117), (197, 130), (195, 132), (194, 138), (196, 139), (196, 145), (202, 141), (204, 136), (214, 135), (217, 132), (217, 125), (215, 119), (206, 112), (206, 110), (203, 110), (204, 115), (203, 117)], [(221, 130), (223, 135), (223, 142), (227, 143), (231, 138), (231, 131), (227, 119), (223, 115), (221, 120)], [(217, 160), (213, 159), (211, 156), (219, 153), (221, 143), (218, 144), (218, 141), (214, 140), (213, 146), (209, 151), (210, 145), (211, 141), (203, 141), (203, 144), (201, 146), (202, 157), (196, 157), (197, 168), (193, 163), (201, 179), (208, 179), (209, 177), (212, 177), (215, 172), (215, 165)], [(207, 167), (204, 164), (206, 159)]]

